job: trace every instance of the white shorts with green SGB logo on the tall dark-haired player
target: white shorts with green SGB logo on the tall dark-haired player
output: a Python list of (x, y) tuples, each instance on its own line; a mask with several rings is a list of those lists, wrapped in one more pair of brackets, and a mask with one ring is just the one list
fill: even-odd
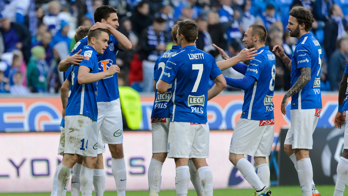
[(123, 143), (123, 125), (120, 99), (110, 102), (97, 102), (97, 130), (100, 130), (103, 143)]

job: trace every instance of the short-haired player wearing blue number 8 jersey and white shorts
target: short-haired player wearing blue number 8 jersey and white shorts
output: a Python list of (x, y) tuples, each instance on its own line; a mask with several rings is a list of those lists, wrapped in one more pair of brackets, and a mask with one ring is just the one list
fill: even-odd
[[(247, 49), (254, 48), (257, 56), (249, 65), (238, 63), (233, 66), (244, 78), (225, 77), (228, 85), (245, 91), (243, 112), (233, 132), (229, 160), (243, 174), (244, 178), (256, 190), (256, 195), (268, 196), (269, 166), (266, 157), (271, 152), (274, 138), (274, 77), (276, 70), (275, 56), (264, 45), (267, 31), (262, 25), (250, 25), (245, 31), (243, 42)], [(221, 50), (220, 50), (221, 54)], [(227, 61), (217, 62), (226, 64)], [(254, 156), (258, 173), (244, 158), (244, 154)]]

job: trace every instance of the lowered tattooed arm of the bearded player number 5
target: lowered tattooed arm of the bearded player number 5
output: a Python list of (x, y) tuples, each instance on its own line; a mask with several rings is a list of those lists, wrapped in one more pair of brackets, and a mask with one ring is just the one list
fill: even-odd
[(299, 92), (310, 80), (310, 67), (300, 68), (300, 71), (301, 75), (296, 80), (295, 84), (285, 93), (283, 97), (282, 107), (280, 108), (283, 115), (286, 114), (286, 105), (288, 102), (288, 98), (294, 95), (295, 93)]

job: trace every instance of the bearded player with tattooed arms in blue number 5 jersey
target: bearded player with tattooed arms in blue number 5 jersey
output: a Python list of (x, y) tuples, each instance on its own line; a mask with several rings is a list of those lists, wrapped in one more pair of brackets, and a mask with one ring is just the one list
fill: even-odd
[(284, 95), (281, 111), (286, 114), (286, 105), (291, 96), (291, 125), (284, 142), (286, 154), (290, 157), (298, 172), (303, 196), (318, 196), (313, 182), (313, 168), (309, 158), (309, 149), (313, 146), (312, 134), (317, 126), (322, 108), (320, 92), (320, 72), (322, 66), (322, 48), (312, 36), (314, 17), (309, 9), (295, 6), (289, 11), (288, 25), (290, 36), (298, 39), (290, 60), (284, 49), (276, 45), (273, 52), (282, 58), (291, 70), (291, 88)]

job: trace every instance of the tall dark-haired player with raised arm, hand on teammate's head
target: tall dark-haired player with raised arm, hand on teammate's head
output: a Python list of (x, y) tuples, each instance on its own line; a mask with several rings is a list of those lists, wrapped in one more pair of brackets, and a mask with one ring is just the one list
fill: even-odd
[[(115, 29), (119, 26), (117, 9), (111, 6), (100, 6), (94, 12), (94, 20), (96, 24), (92, 26), (91, 30), (101, 28), (111, 32), (108, 48), (106, 48), (103, 55), (98, 56), (99, 71), (103, 72), (116, 63), (116, 55), (119, 51), (130, 50), (132, 44), (126, 36)], [(77, 42), (69, 56), (73, 56), (85, 45), (87, 45), (87, 38)], [(60, 62), (58, 67), (60, 71), (68, 68), (69, 56)], [(124, 196), (126, 194), (127, 173), (122, 147), (123, 127), (119, 97), (117, 73), (103, 78), (98, 83), (97, 129), (101, 132), (103, 143), (109, 144), (112, 156), (111, 171), (115, 179), (117, 195)], [(104, 175), (104, 171), (99, 173), (99, 175)]]

